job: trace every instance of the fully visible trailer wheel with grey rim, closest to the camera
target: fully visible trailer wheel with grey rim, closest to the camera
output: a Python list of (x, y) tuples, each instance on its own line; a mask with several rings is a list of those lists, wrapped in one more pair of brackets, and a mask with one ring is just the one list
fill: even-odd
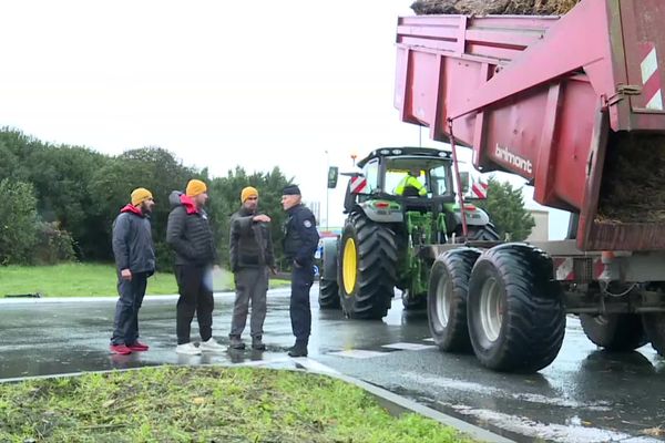
[(469, 336), (481, 364), (535, 372), (559, 354), (565, 331), (561, 288), (552, 261), (523, 244), (484, 251), (469, 279)]

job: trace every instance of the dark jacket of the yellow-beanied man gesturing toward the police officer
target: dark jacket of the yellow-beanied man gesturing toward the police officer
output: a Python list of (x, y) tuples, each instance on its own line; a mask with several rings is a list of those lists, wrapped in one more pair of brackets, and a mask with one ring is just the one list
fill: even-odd
[(256, 215), (242, 207), (231, 216), (228, 251), (234, 272), (246, 267), (275, 267), (270, 224), (254, 222)]

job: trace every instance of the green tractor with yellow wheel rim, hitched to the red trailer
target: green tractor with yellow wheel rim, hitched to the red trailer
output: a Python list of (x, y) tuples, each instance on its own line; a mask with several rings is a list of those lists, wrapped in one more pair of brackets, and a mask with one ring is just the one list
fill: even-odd
[(436, 259), (428, 246), (499, 240), (487, 213), (473, 205), (464, 206), (462, 235), (450, 152), (379, 148), (358, 166), (361, 173), (346, 174), (341, 238), (323, 243), (321, 309), (341, 307), (349, 318), (380, 319), (396, 287), (406, 309), (423, 308)]

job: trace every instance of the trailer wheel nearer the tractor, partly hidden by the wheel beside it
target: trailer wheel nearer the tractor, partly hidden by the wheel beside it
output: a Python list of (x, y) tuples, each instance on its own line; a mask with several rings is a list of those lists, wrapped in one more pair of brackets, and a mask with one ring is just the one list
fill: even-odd
[(440, 255), (430, 272), (427, 318), (434, 343), (446, 352), (471, 349), (467, 326), (469, 277), (478, 249), (459, 248)]

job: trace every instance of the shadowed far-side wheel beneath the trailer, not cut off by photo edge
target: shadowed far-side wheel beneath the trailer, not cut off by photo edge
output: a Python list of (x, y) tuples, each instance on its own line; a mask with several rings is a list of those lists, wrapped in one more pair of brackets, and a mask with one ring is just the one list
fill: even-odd
[(589, 340), (606, 351), (632, 351), (647, 341), (642, 319), (636, 313), (581, 313), (580, 322)]

